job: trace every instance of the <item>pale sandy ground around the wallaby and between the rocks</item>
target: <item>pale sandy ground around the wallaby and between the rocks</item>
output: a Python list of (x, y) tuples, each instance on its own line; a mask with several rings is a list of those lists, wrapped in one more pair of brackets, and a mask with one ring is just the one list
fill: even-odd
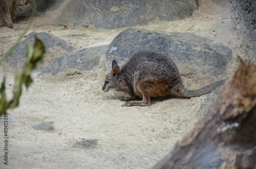
[[(238, 65), (236, 55), (241, 54), (228, 11), (225, 3), (201, 1), (200, 9), (189, 18), (135, 28), (196, 33), (228, 45), (233, 51), (228, 77)], [(0, 58), (27, 22), (16, 22), (15, 29), (0, 28)], [(50, 32), (84, 48), (110, 44), (124, 29), (63, 29), (51, 24), (50, 14), (42, 14), (35, 17), (30, 31)], [(46, 64), (50, 60), (48, 55)], [(150, 168), (206, 114), (212, 101), (208, 94), (191, 99), (168, 96), (153, 99), (150, 107), (120, 107), (121, 94), (101, 90), (103, 62), (97, 69), (63, 76), (61, 81), (39, 79), (38, 73), (33, 74), (34, 83), (24, 88), (19, 107), (8, 111), (8, 165), (3, 160), (3, 117), (0, 119), (0, 168)], [(4, 75), (10, 99), (14, 75), (0, 66), (1, 81)], [(54, 122), (54, 131), (32, 129), (41, 122)], [(72, 143), (87, 139), (98, 140), (94, 148), (73, 147)]]

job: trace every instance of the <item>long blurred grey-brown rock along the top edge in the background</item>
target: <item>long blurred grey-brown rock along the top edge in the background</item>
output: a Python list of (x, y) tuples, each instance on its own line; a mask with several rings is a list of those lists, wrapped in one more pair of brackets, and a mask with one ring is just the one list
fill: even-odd
[[(45, 3), (44, 3), (45, 2)], [(56, 1), (54, 1), (56, 2)], [(67, 26), (93, 25), (101, 29), (114, 29), (145, 25), (154, 20), (175, 20), (192, 15), (198, 8), (196, 0), (76, 0), (50, 3), (37, 2), (40, 11), (59, 10), (58, 24)], [(42, 6), (43, 5), (43, 6)], [(61, 6), (61, 9), (58, 8)]]

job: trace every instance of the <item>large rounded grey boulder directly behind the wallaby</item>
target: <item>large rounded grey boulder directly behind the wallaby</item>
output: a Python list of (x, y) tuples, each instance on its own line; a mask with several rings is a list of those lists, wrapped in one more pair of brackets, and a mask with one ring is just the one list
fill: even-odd
[(223, 78), (232, 56), (228, 46), (195, 34), (126, 29), (115, 37), (106, 51), (106, 74), (111, 70), (112, 60), (122, 65), (139, 51), (155, 51), (169, 56), (181, 76), (193, 81)]

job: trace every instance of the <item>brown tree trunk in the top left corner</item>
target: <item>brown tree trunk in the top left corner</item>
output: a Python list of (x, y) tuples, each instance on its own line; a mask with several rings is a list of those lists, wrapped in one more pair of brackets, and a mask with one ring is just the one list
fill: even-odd
[(18, 6), (33, 3), (37, 0), (0, 0), (0, 28), (12, 28)]

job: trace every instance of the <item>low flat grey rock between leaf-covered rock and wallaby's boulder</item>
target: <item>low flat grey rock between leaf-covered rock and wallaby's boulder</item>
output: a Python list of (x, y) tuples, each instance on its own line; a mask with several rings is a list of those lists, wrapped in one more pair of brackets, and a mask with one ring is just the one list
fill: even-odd
[(65, 72), (69, 69), (91, 70), (100, 66), (100, 59), (108, 50), (109, 45), (88, 47), (78, 50), (71, 54), (65, 54), (53, 59), (49, 66), (43, 70), (40, 75), (56, 75), (59, 72)]

